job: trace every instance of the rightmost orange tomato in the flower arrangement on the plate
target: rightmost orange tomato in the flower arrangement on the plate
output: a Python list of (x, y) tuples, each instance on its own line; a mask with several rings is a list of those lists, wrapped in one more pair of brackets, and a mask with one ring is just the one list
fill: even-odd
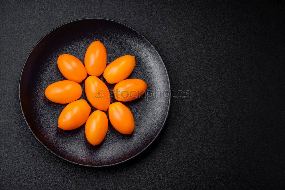
[(141, 97), (146, 91), (147, 84), (141, 79), (126, 79), (114, 87), (115, 99), (122, 102)]

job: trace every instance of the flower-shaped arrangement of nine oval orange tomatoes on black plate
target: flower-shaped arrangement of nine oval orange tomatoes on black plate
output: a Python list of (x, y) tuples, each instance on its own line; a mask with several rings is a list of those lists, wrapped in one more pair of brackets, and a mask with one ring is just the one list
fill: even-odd
[[(112, 126), (122, 134), (131, 134), (135, 129), (133, 114), (121, 102), (110, 105), (111, 97), (108, 87), (98, 76), (108, 83), (115, 84), (113, 89), (118, 101), (131, 101), (141, 97), (146, 91), (146, 83), (141, 79), (126, 79), (135, 68), (135, 57), (125, 55), (115, 59), (107, 67), (107, 53), (105, 46), (99, 42), (92, 42), (87, 48), (84, 65), (70, 54), (58, 57), (57, 65), (60, 72), (68, 80), (58, 81), (46, 87), (47, 99), (55, 103), (66, 104), (58, 118), (58, 127), (63, 130), (73, 130), (85, 122), (85, 134), (92, 145), (100, 144), (108, 130), (108, 118)], [(87, 77), (87, 73), (90, 75)], [(82, 95), (80, 84), (85, 78), (85, 93), (88, 101), (97, 110), (90, 114), (91, 107)], [(79, 99), (79, 100), (78, 100)]]

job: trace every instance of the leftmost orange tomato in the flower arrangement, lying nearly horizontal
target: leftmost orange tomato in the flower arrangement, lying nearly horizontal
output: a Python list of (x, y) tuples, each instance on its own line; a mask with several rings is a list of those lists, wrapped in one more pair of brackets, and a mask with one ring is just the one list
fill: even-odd
[(74, 81), (58, 81), (48, 85), (44, 94), (52, 102), (66, 104), (80, 98), (82, 89)]

